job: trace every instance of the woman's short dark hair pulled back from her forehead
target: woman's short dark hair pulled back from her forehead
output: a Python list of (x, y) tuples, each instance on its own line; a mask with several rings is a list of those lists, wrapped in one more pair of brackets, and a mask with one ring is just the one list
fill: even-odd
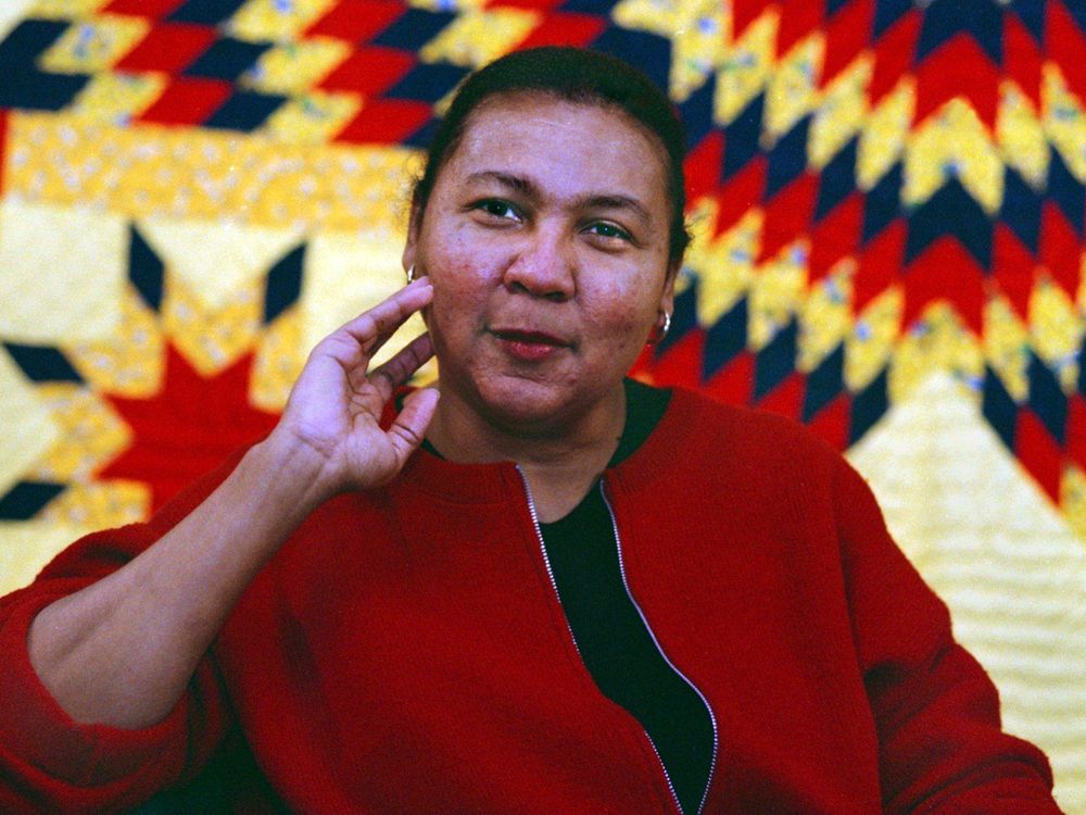
[(438, 174), (455, 152), (471, 113), (482, 102), (503, 93), (533, 92), (583, 104), (615, 105), (659, 138), (668, 156), (668, 261), (678, 263), (690, 243), (684, 221), (682, 124), (670, 100), (647, 76), (622, 60), (583, 48), (547, 46), (514, 51), (470, 74), (433, 135), (426, 166), (412, 195), (413, 209), (419, 215), (426, 210)]

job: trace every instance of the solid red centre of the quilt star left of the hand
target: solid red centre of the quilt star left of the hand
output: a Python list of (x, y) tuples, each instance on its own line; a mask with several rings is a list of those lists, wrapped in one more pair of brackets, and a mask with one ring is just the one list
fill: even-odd
[(172, 346), (162, 389), (149, 399), (105, 394), (132, 431), (132, 443), (99, 478), (142, 481), (151, 511), (179, 489), (275, 427), (278, 415), (253, 408), (249, 379), (253, 355), (205, 378)]

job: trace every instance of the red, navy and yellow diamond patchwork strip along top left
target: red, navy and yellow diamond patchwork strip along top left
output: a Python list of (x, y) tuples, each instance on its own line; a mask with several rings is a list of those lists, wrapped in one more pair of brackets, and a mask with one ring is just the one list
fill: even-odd
[[(321, 139), (418, 146), (434, 104), (504, 50), (591, 46), (635, 58), (665, 80), (670, 62), (666, 39), (611, 25), (606, 2), (495, 3), (478, 13), (391, 0), (100, 5), (78, 20), (30, 17), (9, 35), (0, 65), (16, 80), (0, 89), (0, 106), (63, 111), (109, 93), (99, 114), (124, 123), (288, 139), (316, 128)], [(495, 53), (465, 53), (480, 25), (500, 39)]]

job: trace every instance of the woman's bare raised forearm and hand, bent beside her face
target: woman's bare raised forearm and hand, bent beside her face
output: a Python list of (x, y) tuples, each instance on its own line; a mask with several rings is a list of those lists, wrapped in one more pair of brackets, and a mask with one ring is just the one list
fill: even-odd
[(367, 367), (431, 296), (416, 281), (318, 343), (275, 430), (203, 503), (124, 567), (37, 615), (30, 663), (73, 719), (139, 728), (166, 716), (233, 603), (298, 525), (338, 492), (395, 477), (437, 393), (414, 393), (388, 430), (378, 423), (429, 359), (429, 338)]

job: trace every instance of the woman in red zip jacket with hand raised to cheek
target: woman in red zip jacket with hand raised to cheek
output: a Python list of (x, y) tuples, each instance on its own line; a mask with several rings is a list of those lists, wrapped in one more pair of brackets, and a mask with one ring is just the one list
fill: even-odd
[(217, 751), (257, 812), (1057, 812), (838, 456), (623, 379), (670, 321), (681, 159), (608, 58), (470, 78), (413, 281), (266, 440), (4, 601), (0, 807), (124, 808)]

